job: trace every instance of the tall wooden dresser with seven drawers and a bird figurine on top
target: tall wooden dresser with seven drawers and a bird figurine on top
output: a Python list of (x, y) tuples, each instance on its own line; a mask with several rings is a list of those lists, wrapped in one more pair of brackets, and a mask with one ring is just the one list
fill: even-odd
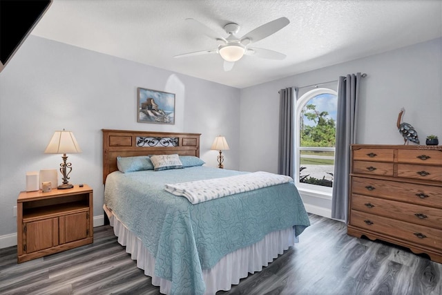
[(442, 263), (442, 146), (352, 145), (347, 234)]

